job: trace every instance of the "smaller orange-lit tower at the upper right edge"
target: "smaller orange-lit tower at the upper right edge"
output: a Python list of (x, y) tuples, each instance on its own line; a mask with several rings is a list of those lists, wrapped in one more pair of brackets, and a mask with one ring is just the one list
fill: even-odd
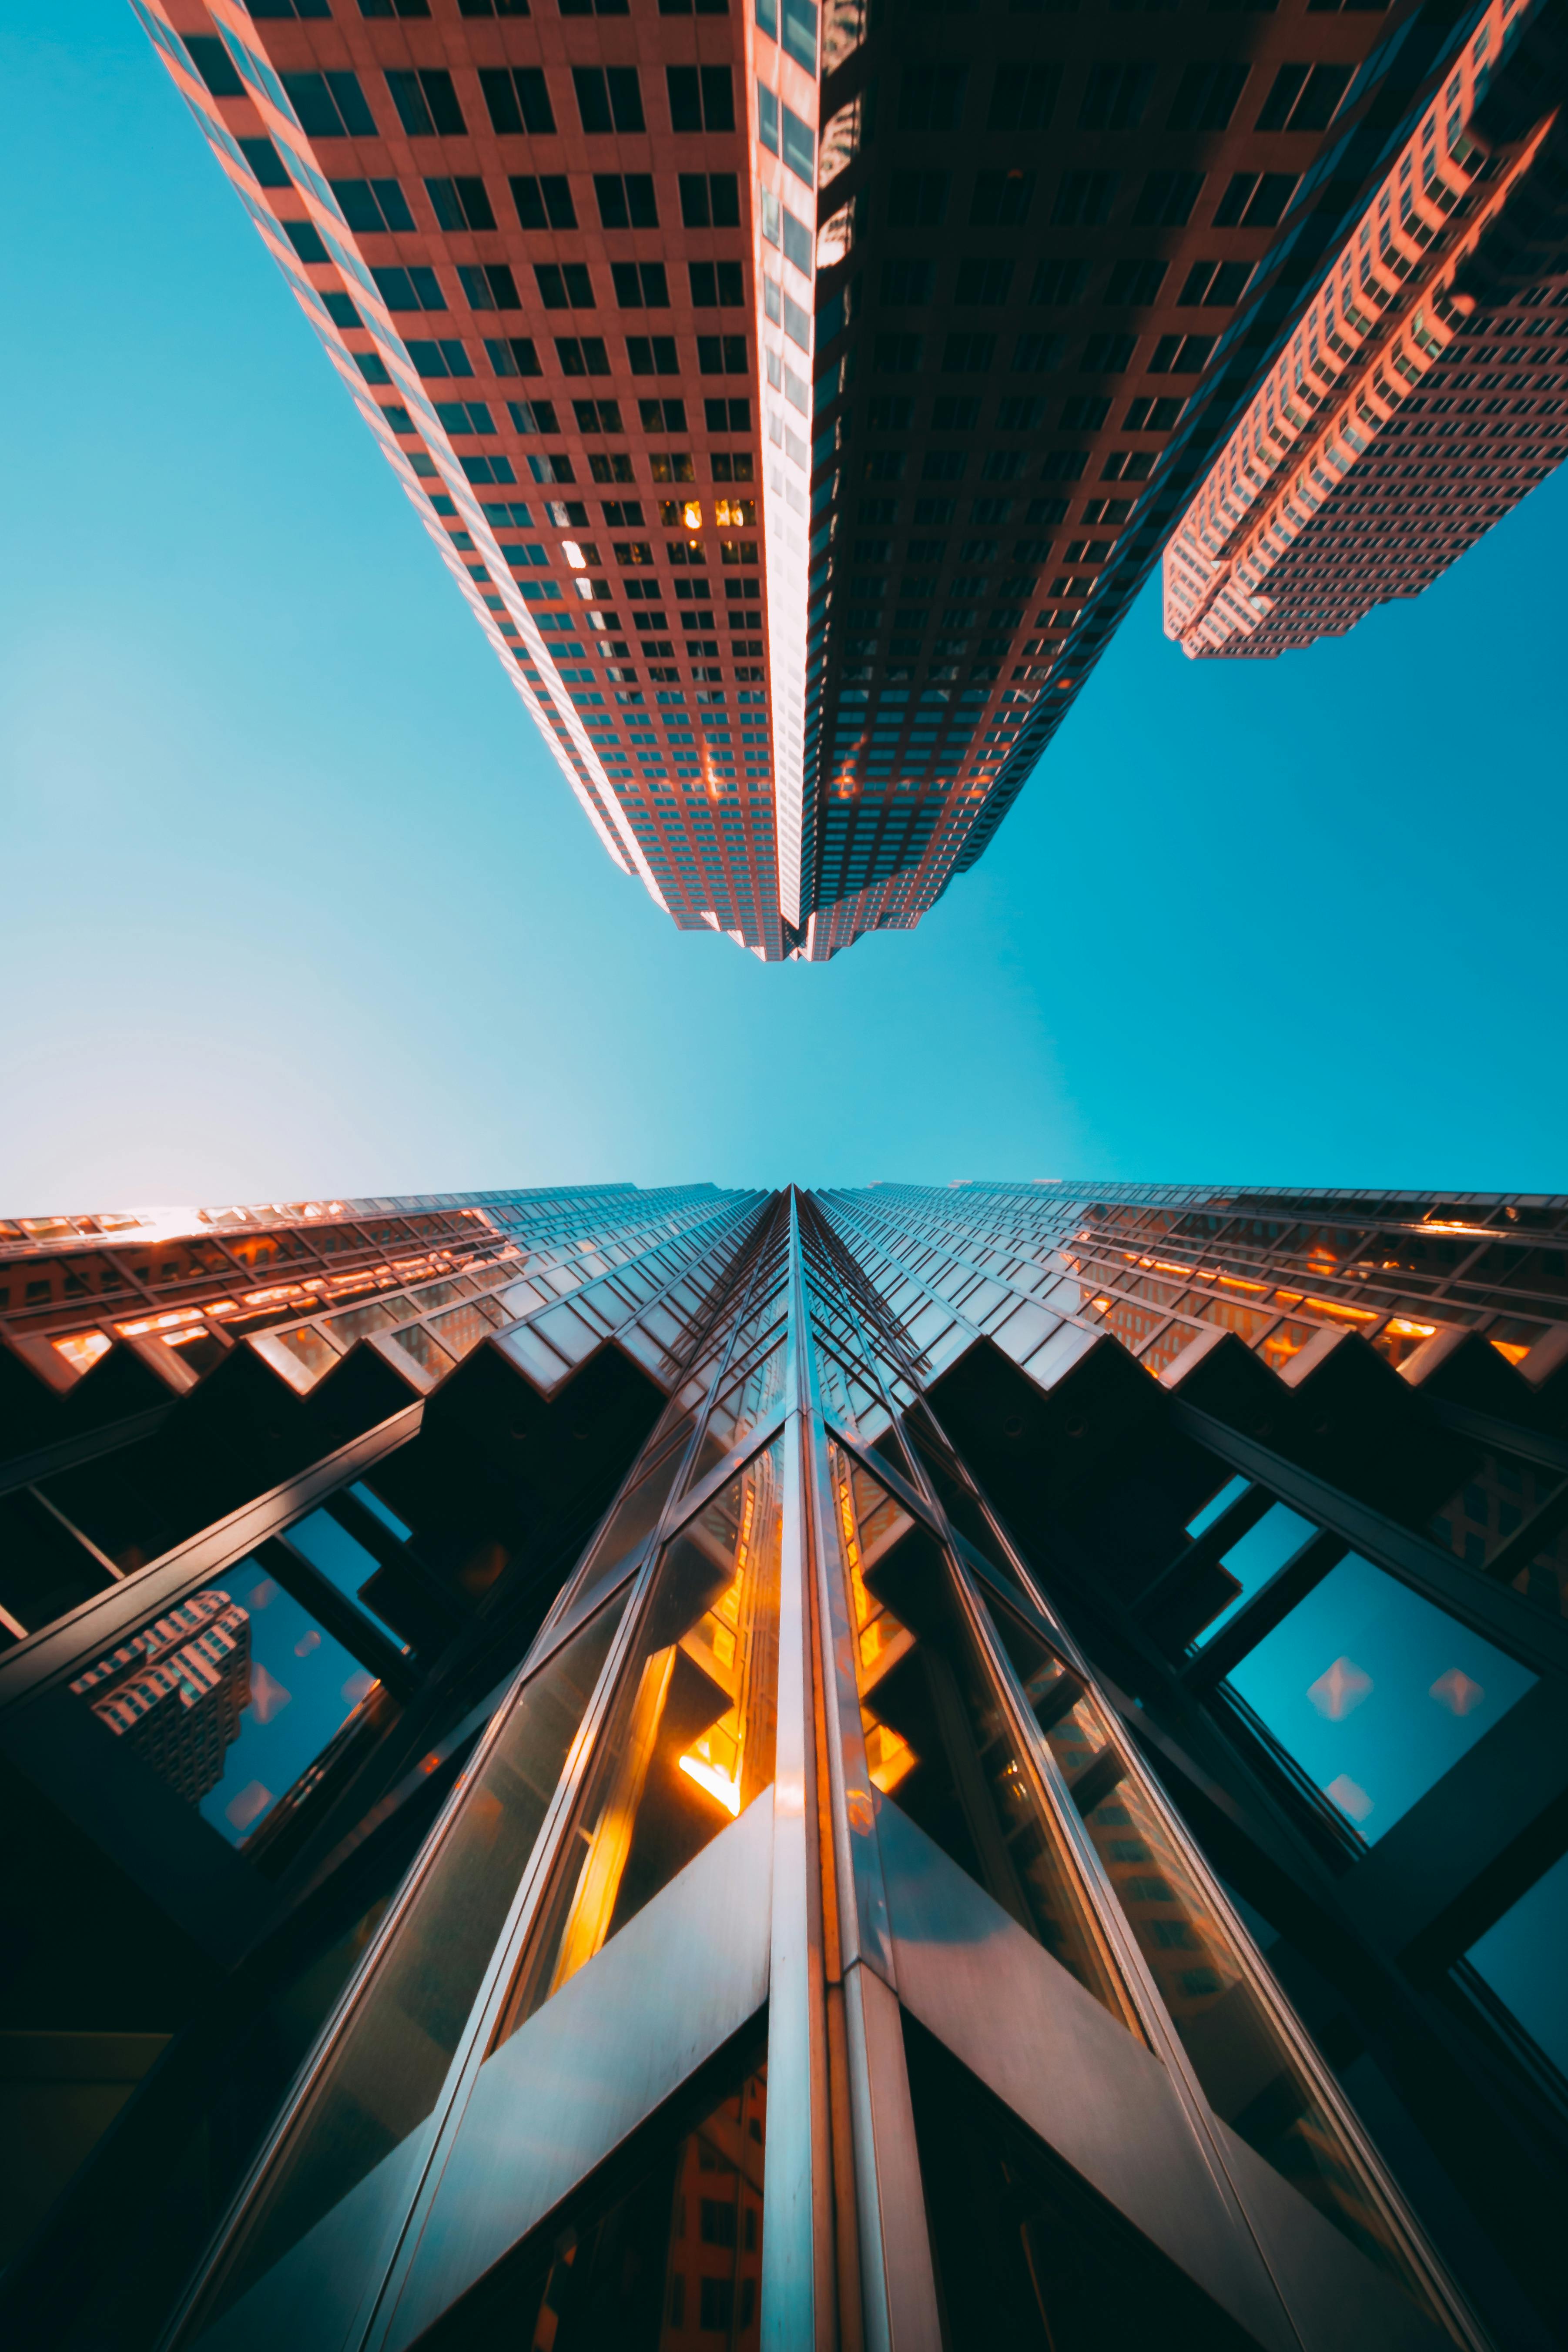
[(1187, 654), (1420, 595), (1563, 459), (1566, 99), (1563, 9), (1495, 0), (1166, 548)]

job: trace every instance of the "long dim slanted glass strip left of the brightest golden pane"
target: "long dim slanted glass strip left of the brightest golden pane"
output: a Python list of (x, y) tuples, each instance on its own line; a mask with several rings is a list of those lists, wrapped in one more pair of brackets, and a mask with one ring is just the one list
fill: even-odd
[(447, 2067), (618, 1616), (618, 1604), (604, 1609), (517, 1693), (186, 2343), (240, 2300), (249, 2312), (233, 2326), (270, 2331), (306, 2279), (317, 2296), (313, 2345), (343, 2340), (390, 2258)]

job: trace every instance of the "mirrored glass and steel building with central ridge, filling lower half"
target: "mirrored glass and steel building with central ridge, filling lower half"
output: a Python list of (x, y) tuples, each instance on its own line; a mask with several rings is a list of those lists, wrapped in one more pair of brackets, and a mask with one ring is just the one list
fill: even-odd
[(1128, 1185), (0, 1228), (7, 2343), (1559, 2340), (1566, 1268)]

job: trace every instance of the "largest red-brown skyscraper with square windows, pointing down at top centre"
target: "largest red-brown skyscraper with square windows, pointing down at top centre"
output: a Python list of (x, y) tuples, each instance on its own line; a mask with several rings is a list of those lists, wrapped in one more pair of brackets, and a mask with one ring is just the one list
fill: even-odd
[(1488, 16), (134, 5), (604, 847), (762, 957), (980, 856)]

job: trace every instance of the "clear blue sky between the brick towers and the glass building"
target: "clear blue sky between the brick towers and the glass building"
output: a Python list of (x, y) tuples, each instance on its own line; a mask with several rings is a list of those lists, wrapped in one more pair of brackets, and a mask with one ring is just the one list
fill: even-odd
[(0, 1209), (628, 1176), (1556, 1188), (1568, 482), (1420, 604), (1147, 590), (912, 936), (597, 847), (125, 0), (0, 9)]

